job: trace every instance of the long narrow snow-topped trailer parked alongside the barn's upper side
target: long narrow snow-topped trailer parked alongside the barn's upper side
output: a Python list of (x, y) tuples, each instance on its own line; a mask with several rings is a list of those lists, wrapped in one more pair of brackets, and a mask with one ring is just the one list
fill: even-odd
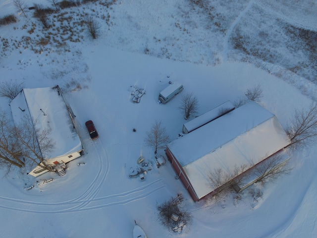
[(227, 101), (210, 111), (202, 114), (201, 116), (192, 119), (186, 123), (183, 124), (183, 133), (187, 134), (193, 130), (196, 130), (197, 128), (206, 125), (207, 123), (211, 122), (212, 120), (215, 120), (217, 118), (220, 118), (221, 116), (230, 113), (235, 109), (234, 105)]

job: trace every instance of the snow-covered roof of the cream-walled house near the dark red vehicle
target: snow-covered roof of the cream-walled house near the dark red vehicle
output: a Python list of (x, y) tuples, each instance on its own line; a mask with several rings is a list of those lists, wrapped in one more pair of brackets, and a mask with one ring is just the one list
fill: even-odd
[(10, 106), (15, 124), (25, 117), (31, 117), (40, 130), (51, 130), (50, 136), (55, 146), (51, 152), (43, 155), (45, 159), (82, 150), (80, 138), (58, 86), (25, 88), (11, 101)]

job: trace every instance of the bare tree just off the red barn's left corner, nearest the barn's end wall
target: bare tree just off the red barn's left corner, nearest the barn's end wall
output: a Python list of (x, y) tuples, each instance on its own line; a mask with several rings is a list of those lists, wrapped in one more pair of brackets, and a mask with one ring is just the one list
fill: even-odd
[(155, 149), (155, 154), (159, 148), (164, 147), (169, 142), (169, 136), (166, 134), (166, 128), (162, 126), (161, 121), (155, 121), (150, 131), (147, 132), (145, 143)]

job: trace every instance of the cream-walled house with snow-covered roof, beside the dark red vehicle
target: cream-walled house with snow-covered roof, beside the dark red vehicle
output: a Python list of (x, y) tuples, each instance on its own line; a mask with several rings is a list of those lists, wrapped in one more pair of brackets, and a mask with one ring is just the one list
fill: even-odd
[[(46, 165), (51, 166), (59, 175), (64, 175), (65, 164), (80, 157), (83, 146), (75, 129), (74, 115), (58, 85), (24, 88), (10, 102), (10, 107), (16, 125), (28, 118), (39, 132), (50, 130), (50, 138), (54, 141), (53, 148), (42, 153), (41, 146), (38, 147)], [(42, 165), (33, 168), (29, 174), (38, 177), (46, 172), (48, 170)]]

